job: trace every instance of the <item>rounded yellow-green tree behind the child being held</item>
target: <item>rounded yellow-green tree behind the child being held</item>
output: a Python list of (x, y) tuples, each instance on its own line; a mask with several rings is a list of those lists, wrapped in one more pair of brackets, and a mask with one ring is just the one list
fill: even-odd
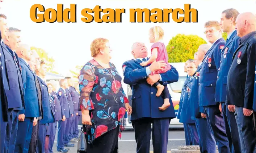
[(201, 44), (206, 44), (206, 41), (197, 35), (177, 34), (166, 46), (168, 62), (186, 62), (188, 59), (194, 59), (194, 53)]

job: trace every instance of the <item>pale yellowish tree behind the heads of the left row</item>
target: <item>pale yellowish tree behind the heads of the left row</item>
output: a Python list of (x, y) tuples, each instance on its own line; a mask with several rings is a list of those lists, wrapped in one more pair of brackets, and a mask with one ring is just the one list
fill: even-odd
[(37, 54), (39, 55), (40, 59), (46, 63), (45, 65), (46, 65), (47, 72), (59, 74), (58, 72), (53, 71), (55, 60), (53, 59), (53, 57), (49, 57), (48, 53), (44, 49), (37, 48), (35, 46), (32, 46), (30, 49), (35, 50), (37, 52)]

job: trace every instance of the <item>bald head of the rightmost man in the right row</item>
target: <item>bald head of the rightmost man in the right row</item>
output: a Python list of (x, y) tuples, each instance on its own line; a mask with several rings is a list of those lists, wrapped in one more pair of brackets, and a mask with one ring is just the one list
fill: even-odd
[(250, 32), (256, 31), (256, 18), (251, 12), (245, 12), (236, 18), (236, 30), (239, 37), (243, 37)]

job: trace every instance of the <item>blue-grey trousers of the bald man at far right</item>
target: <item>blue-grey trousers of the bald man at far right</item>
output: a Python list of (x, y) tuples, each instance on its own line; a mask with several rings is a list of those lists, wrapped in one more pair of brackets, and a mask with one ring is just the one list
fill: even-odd
[(238, 126), (242, 153), (256, 153), (256, 135), (251, 116), (244, 116), (243, 107), (235, 106), (235, 118)]

